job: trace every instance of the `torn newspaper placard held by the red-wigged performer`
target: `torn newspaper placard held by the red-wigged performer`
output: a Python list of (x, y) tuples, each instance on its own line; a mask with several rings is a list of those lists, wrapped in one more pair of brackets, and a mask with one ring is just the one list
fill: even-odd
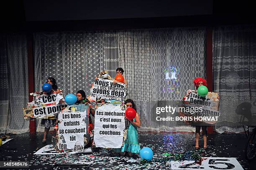
[(214, 92), (208, 92), (205, 97), (201, 97), (194, 92), (189, 93), (184, 99), (184, 107), (189, 107), (189, 110), (196, 107), (199, 109), (198, 112), (194, 112), (193, 114), (191, 112), (182, 112), (183, 116), (198, 117), (198, 121), (194, 122), (215, 124), (218, 121), (218, 117), (220, 117), (219, 100), (217, 97), (218, 94)]

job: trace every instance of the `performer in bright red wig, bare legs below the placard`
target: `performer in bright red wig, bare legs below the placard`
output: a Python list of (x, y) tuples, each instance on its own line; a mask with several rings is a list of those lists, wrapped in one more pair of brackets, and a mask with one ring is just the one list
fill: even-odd
[[(197, 89), (200, 86), (206, 86), (207, 87), (207, 81), (205, 79), (202, 79), (202, 78), (196, 78), (194, 80), (194, 85), (196, 87), (196, 90), (188, 90), (186, 96), (189, 96), (189, 93), (192, 93), (192, 92), (197, 93)], [(219, 96), (217, 98), (220, 99)], [(195, 149), (196, 150), (199, 149), (199, 137), (200, 137), (200, 129), (201, 128), (202, 128), (202, 135), (203, 135), (203, 140), (204, 140), (204, 148), (207, 149), (207, 126), (198, 126), (196, 123), (192, 123), (192, 125), (194, 125), (196, 127), (196, 131), (195, 131), (195, 136), (196, 136)]]

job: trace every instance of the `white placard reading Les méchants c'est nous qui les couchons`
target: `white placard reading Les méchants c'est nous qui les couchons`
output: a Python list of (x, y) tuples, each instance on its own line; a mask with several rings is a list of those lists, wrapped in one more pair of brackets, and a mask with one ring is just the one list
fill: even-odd
[(120, 148), (125, 129), (122, 105), (105, 104), (95, 111), (94, 142), (96, 147)]

